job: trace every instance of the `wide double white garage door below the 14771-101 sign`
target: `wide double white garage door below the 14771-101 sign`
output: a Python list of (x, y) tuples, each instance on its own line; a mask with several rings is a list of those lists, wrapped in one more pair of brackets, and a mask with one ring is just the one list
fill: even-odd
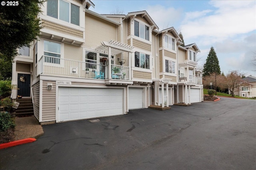
[(123, 89), (59, 87), (58, 120), (121, 115)]

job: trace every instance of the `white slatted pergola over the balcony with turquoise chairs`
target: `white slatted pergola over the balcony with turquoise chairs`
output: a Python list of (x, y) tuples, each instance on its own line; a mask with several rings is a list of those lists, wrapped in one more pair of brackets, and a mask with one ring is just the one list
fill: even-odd
[(120, 43), (118, 41), (102, 41), (101, 45), (96, 48), (97, 51), (108, 53), (108, 47), (111, 48), (111, 54), (117, 55), (122, 52), (134, 53), (134, 47), (128, 44)]

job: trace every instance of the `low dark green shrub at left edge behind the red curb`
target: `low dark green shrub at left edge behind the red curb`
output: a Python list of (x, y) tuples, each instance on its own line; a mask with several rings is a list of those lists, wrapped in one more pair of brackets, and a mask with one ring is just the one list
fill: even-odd
[(9, 128), (14, 128), (14, 119), (8, 112), (0, 112), (0, 131), (4, 132)]

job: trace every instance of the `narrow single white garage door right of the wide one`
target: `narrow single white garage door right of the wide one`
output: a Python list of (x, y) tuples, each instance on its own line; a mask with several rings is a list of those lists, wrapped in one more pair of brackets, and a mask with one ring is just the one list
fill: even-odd
[(128, 108), (129, 109), (139, 109), (143, 105), (143, 88), (129, 88), (128, 89)]

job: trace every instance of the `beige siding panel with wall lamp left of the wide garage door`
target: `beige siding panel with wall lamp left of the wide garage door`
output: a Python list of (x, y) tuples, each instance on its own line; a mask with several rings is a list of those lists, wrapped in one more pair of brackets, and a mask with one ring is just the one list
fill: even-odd
[[(47, 83), (52, 83), (52, 90), (47, 90)], [(56, 82), (42, 82), (42, 121), (56, 120)]]

